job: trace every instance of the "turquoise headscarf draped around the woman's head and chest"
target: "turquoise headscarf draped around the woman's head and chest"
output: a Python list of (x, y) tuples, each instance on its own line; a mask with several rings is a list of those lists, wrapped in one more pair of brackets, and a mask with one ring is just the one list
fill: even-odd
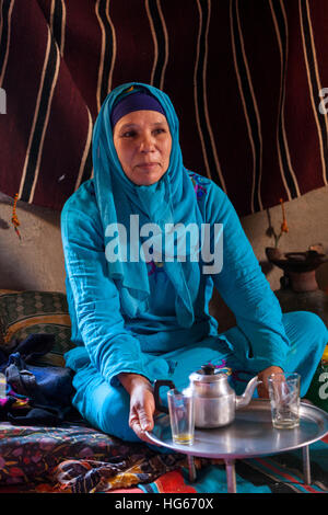
[[(161, 103), (172, 136), (168, 169), (159, 182), (149, 186), (137, 185), (125, 174), (114, 146), (110, 126), (110, 113), (117, 99), (133, 94), (133, 91), (140, 88), (148, 90)], [(117, 253), (130, 255), (130, 215), (139, 215), (140, 227), (151, 222), (161, 227), (162, 231), (165, 230), (165, 224), (184, 224), (184, 227), (197, 224), (200, 228), (203, 220), (197, 205), (194, 185), (183, 164), (178, 118), (169, 98), (161, 90), (139, 82), (129, 82), (107, 95), (94, 126), (93, 167), (105, 248), (110, 242), (113, 244), (113, 233), (109, 236), (108, 231), (106, 233), (108, 226), (113, 228), (113, 225), (121, 224), (127, 229), (127, 239), (118, 238), (116, 233)], [(138, 251), (142, 247), (142, 237), (139, 237)], [(163, 243), (164, 238), (161, 241)], [(136, 249), (133, 253), (136, 255)], [(194, 302), (200, 282), (199, 262), (190, 260), (189, 254), (185, 262), (177, 259), (167, 261), (163, 258), (163, 265), (176, 291), (177, 321), (184, 328), (191, 327), (195, 321)], [(148, 266), (142, 259), (127, 262), (119, 259), (114, 262), (108, 261), (108, 274), (120, 293), (121, 307), (127, 317), (136, 318), (148, 309), (151, 291)], [(161, 291), (156, 295), (161, 295)]]

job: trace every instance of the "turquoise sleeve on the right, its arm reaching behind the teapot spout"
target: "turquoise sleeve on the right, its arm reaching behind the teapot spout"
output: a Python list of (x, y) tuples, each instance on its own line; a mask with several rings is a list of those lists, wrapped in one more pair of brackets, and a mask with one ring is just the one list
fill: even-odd
[(216, 185), (210, 193), (207, 219), (223, 224), (223, 266), (212, 276), (214, 286), (249, 342), (249, 348), (243, 352), (254, 371), (271, 365), (283, 368), (290, 342), (278, 299), (227, 196)]

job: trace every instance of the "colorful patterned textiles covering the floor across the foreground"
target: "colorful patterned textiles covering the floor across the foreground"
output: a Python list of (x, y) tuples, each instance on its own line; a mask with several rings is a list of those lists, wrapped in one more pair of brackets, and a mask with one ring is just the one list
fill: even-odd
[[(237, 493), (327, 493), (328, 437), (309, 446), (312, 482), (303, 482), (302, 449), (236, 461)], [(0, 424), (0, 493), (225, 493), (221, 460), (187, 460), (127, 444), (83, 424)]]

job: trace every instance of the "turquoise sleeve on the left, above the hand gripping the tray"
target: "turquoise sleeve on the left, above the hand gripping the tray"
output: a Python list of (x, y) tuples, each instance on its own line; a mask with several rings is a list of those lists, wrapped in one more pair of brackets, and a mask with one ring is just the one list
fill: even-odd
[[(117, 384), (116, 376), (122, 371), (149, 377), (152, 369), (149, 357), (125, 327), (118, 289), (106, 274), (102, 224), (95, 197), (86, 187), (80, 188), (65, 205), (61, 233), (67, 284), (91, 363), (110, 384)], [(165, 377), (166, 362), (157, 358), (156, 366)]]

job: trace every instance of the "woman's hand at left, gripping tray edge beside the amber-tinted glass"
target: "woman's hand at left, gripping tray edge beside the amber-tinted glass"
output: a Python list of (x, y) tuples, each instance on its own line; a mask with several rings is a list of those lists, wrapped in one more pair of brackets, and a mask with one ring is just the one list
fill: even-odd
[(129, 426), (140, 439), (153, 444), (144, 434), (154, 427), (155, 400), (151, 384), (138, 374), (124, 373), (118, 378), (130, 394)]

